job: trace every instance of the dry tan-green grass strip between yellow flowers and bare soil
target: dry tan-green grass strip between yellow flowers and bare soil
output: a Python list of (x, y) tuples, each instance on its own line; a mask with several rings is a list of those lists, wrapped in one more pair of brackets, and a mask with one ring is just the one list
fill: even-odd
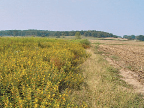
[(91, 57), (82, 65), (87, 86), (73, 93), (77, 96), (75, 102), (84, 100), (90, 108), (143, 108), (144, 101), (120, 80), (118, 70), (94, 50), (94, 47), (87, 50)]

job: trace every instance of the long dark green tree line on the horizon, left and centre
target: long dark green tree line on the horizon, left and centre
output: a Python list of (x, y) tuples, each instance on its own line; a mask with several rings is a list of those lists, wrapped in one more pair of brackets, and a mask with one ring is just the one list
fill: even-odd
[(103, 32), (103, 31), (96, 31), (96, 30), (88, 30), (88, 31), (49, 31), (49, 30), (3, 30), (0, 31), (0, 36), (41, 36), (41, 37), (48, 37), (48, 36), (75, 36), (76, 32), (79, 32), (80, 35), (83, 36), (91, 36), (91, 37), (98, 37), (98, 38), (105, 38), (105, 37), (115, 37), (118, 36), (113, 35), (112, 33)]

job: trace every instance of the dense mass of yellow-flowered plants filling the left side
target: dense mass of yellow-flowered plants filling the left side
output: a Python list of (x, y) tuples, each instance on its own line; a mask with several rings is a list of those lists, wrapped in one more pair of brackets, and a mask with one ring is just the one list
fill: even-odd
[(72, 107), (69, 90), (83, 83), (88, 57), (80, 43), (48, 38), (0, 38), (0, 107)]

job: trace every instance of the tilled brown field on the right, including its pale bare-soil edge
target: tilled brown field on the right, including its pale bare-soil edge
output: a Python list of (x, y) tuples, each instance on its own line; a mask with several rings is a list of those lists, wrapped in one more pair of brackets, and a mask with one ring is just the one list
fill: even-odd
[(99, 52), (120, 69), (123, 80), (144, 94), (144, 42), (126, 40), (91, 40), (99, 43)]

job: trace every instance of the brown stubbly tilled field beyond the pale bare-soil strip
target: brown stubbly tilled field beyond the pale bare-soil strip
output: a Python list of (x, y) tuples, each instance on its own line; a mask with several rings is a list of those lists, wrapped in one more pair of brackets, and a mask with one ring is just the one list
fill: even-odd
[(115, 59), (123, 68), (135, 71), (139, 81), (144, 83), (144, 42), (127, 40), (94, 40), (99, 42), (99, 50)]

